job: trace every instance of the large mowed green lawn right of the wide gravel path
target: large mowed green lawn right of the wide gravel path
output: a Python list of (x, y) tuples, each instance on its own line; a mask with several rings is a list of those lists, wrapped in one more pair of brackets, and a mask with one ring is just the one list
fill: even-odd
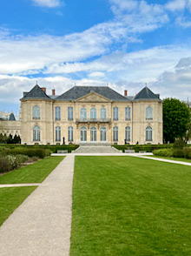
[(191, 167), (76, 157), (70, 256), (191, 255)]

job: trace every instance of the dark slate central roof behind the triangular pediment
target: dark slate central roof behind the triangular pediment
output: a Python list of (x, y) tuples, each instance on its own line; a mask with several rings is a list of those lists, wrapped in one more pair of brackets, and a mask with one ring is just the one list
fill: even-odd
[(82, 98), (92, 91), (95, 91), (103, 97), (109, 98), (113, 101), (129, 101), (128, 98), (107, 86), (74, 86), (69, 91), (66, 91), (61, 96), (57, 97), (56, 100), (76, 100), (77, 98)]

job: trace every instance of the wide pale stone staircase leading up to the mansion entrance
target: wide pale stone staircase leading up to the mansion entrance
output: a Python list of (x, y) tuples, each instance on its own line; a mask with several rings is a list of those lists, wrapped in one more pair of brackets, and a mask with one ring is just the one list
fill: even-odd
[(74, 151), (73, 153), (79, 153), (79, 154), (117, 154), (117, 153), (121, 153), (121, 151), (118, 151), (117, 149), (115, 149), (114, 147), (112, 147), (109, 144), (91, 144), (91, 143), (87, 143), (87, 144), (81, 144), (76, 151)]

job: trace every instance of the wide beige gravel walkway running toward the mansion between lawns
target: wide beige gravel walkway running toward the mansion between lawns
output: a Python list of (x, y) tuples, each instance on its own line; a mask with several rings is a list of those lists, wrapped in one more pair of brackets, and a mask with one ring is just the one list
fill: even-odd
[(68, 155), (0, 227), (1, 256), (69, 256), (74, 155)]

